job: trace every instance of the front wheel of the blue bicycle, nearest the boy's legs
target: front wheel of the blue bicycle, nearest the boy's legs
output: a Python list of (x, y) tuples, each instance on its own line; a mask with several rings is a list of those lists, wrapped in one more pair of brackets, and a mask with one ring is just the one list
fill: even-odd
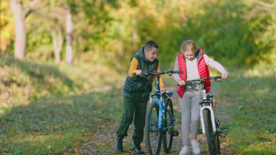
[(145, 143), (148, 154), (159, 154), (162, 145), (162, 132), (158, 131), (159, 107), (152, 102), (146, 113)]

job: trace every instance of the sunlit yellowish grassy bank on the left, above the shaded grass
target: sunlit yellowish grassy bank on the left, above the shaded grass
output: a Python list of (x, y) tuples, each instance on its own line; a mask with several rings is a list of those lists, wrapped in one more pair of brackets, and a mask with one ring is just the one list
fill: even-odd
[[(71, 66), (48, 65), (13, 58), (0, 58), (0, 115), (16, 105), (59, 95), (72, 95), (101, 86), (116, 87), (119, 79), (116, 72), (106, 67), (91, 64)], [(110, 78), (112, 74), (113, 78)]]

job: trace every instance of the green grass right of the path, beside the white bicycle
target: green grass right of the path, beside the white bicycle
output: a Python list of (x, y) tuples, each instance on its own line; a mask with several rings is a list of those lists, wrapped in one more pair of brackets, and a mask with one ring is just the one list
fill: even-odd
[(239, 154), (276, 153), (275, 76), (231, 77), (218, 94), (229, 112), (229, 143)]

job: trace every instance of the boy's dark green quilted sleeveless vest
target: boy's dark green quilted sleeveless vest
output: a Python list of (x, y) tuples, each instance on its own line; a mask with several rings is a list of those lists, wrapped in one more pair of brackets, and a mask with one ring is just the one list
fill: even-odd
[[(158, 60), (151, 62), (145, 59), (144, 47), (142, 47), (137, 54), (134, 56), (138, 61), (137, 69), (149, 72), (154, 72), (158, 67)], [(152, 91), (152, 76), (142, 75), (129, 77), (127, 75), (123, 95), (134, 98), (135, 100), (145, 102), (149, 99), (149, 93)]]

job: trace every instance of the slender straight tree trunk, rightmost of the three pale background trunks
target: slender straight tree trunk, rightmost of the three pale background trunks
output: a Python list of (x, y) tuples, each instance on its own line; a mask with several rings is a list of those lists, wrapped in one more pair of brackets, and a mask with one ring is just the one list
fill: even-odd
[(70, 9), (66, 10), (66, 60), (68, 63), (72, 63), (73, 53), (72, 53), (72, 16)]

